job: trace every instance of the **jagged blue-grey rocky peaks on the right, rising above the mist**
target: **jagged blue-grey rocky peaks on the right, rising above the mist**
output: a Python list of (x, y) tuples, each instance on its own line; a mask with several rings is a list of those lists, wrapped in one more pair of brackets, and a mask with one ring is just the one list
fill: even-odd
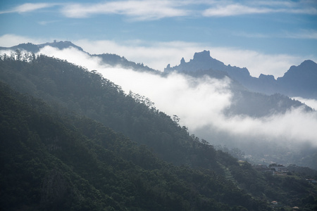
[[(317, 64), (312, 60), (305, 60), (299, 66), (292, 66), (285, 72), (283, 77), (275, 79), (273, 75), (263, 75), (252, 77), (247, 68), (238, 68), (236, 66), (225, 65), (224, 63), (212, 58), (210, 51), (194, 53), (194, 58), (185, 62), (184, 58), (180, 60), (180, 65), (167, 67), (164, 72), (185, 72), (193, 75), (215, 74), (215, 71), (223, 71), (223, 75), (239, 82), (249, 91), (260, 92), (263, 94), (285, 94), (287, 96), (302, 96), (304, 98), (317, 99)], [(219, 73), (218, 73), (219, 75)]]

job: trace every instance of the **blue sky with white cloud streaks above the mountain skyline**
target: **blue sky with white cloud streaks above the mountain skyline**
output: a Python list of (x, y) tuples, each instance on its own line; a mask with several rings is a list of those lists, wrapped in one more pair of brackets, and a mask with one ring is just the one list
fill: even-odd
[(254, 77), (317, 62), (316, 0), (3, 0), (0, 25), (0, 46), (67, 40), (161, 71), (204, 50)]

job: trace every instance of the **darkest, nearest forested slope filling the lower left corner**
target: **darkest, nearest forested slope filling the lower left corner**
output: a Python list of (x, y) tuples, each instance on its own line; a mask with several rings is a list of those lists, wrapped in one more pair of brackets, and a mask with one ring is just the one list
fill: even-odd
[(0, 87), (1, 209), (267, 208), (213, 172), (170, 165), (99, 122)]

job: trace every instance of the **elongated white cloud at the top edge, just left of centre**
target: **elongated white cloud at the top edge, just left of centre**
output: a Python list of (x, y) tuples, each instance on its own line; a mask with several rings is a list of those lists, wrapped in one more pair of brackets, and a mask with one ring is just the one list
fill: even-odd
[(95, 14), (126, 15), (135, 20), (187, 15), (188, 11), (178, 8), (173, 1), (111, 1), (101, 4), (68, 4), (61, 9), (69, 18), (87, 18)]

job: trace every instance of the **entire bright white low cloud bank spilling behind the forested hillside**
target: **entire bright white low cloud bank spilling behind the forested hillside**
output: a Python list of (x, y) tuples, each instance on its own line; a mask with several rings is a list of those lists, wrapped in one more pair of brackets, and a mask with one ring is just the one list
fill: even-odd
[[(97, 70), (104, 77), (120, 85), (128, 93), (133, 91), (147, 96), (157, 109), (168, 115), (178, 115), (180, 124), (189, 127), (189, 132), (204, 129), (204, 137), (213, 132), (228, 134), (232, 139), (253, 141), (279, 140), (280, 143), (311, 143), (317, 146), (317, 113), (305, 113), (302, 108), (285, 114), (253, 118), (242, 115), (226, 116), (225, 108), (231, 105), (230, 79), (205, 77), (196, 79), (176, 73), (161, 77), (146, 72), (123, 68), (110, 68), (92, 60), (76, 49), (59, 51), (45, 47), (41, 53)], [(199, 134), (196, 134), (199, 136)], [(208, 138), (208, 137), (207, 137)], [(284, 141), (281, 141), (284, 140)]]

